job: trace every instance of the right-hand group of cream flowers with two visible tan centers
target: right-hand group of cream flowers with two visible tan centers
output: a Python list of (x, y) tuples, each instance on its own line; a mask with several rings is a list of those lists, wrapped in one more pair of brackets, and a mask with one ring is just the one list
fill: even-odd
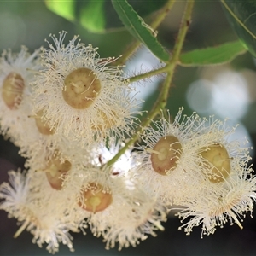
[(182, 222), (190, 217), (182, 225), (188, 235), (200, 224), (202, 235), (212, 234), (229, 219), (242, 229), (241, 217), (256, 199), (250, 148), (230, 140), (236, 127), (226, 121), (195, 113), (181, 119), (181, 113), (172, 124), (162, 118), (146, 129), (134, 175), (149, 195), (178, 210)]

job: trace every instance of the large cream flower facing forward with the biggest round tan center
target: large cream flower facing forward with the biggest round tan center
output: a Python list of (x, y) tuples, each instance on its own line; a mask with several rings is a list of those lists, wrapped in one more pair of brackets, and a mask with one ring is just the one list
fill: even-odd
[(102, 59), (91, 45), (74, 37), (67, 46), (51, 36), (55, 46), (43, 49), (43, 69), (37, 75), (33, 102), (44, 110), (50, 128), (70, 140), (91, 143), (111, 134), (125, 136), (133, 122), (131, 87), (113, 58)]

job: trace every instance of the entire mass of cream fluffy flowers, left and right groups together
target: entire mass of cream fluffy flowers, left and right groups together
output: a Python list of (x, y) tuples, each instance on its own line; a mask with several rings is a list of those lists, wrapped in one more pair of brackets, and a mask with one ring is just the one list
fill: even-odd
[[(26, 171), (9, 172), (0, 186), (0, 209), (49, 253), (63, 243), (73, 250), (69, 231), (90, 228), (106, 248), (135, 247), (164, 230), (172, 209), (189, 234), (202, 225), (210, 234), (230, 219), (241, 227), (253, 210), (256, 177), (249, 148), (230, 141), (226, 122), (196, 113), (172, 120), (168, 112), (140, 131), (133, 87), (114, 58), (66, 32), (54, 44), (0, 60), (1, 132), (26, 157)], [(126, 149), (127, 148), (127, 149)], [(118, 160), (108, 164), (120, 150)]]

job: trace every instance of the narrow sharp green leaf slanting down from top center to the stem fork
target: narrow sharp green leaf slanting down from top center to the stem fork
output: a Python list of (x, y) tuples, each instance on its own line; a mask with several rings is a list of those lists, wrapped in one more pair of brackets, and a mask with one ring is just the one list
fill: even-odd
[(143, 19), (126, 0), (112, 0), (113, 8), (119, 15), (126, 29), (134, 38), (146, 45), (151, 52), (161, 61), (168, 61), (169, 55), (155, 38), (153, 29), (148, 26)]

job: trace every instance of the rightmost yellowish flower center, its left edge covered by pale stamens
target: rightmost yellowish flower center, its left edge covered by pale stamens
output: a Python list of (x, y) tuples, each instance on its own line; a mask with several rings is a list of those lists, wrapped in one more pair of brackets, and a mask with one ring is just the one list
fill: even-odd
[(227, 149), (219, 143), (209, 147), (201, 148), (201, 157), (206, 160), (202, 166), (206, 167), (210, 174), (207, 174), (212, 183), (224, 181), (230, 174), (230, 156)]

